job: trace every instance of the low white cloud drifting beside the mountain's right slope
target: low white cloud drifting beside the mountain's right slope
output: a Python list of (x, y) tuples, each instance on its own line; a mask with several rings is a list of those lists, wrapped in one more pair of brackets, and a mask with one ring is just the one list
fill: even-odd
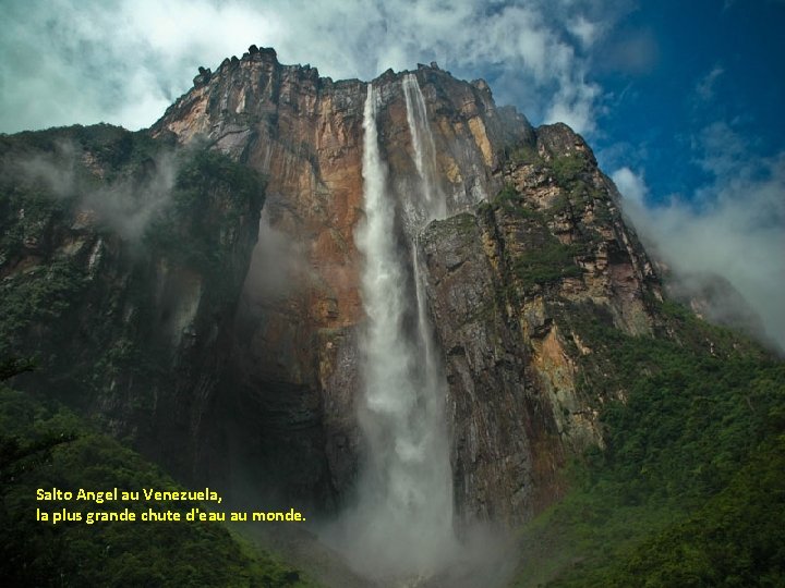
[(696, 138), (697, 161), (713, 181), (691, 198), (648, 205), (641, 174), (628, 168), (613, 180), (623, 206), (650, 252), (681, 274), (727, 279), (785, 348), (785, 151), (757, 158), (723, 122)]

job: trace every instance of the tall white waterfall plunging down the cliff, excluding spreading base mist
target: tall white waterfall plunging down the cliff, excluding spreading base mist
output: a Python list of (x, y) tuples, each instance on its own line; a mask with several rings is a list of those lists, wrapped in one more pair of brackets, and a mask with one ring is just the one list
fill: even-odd
[[(430, 199), (428, 209), (435, 209), (435, 183), (425, 182), (428, 158), (435, 161), (435, 155), (423, 148), (430, 142), (433, 151), (433, 138), (423, 132), (425, 110), (419, 91), (419, 87), (416, 93), (407, 90), (407, 103), (413, 97), (410, 124), (419, 133), (415, 152), (421, 160), (416, 166), (419, 172), (423, 170), (423, 198)], [(398, 581), (443, 569), (457, 541), (444, 378), (426, 319), (416, 250), (411, 255), (400, 250), (395, 197), (388, 193), (387, 166), (379, 154), (376, 110), (377, 96), (369, 84), (363, 113), (365, 220), (355, 237), (364, 256), (361, 293), (367, 316), (361, 335), (359, 411), (365, 455), (358, 504), (342, 517), (336, 542), (357, 571)], [(414, 321), (416, 328), (412, 328)]]

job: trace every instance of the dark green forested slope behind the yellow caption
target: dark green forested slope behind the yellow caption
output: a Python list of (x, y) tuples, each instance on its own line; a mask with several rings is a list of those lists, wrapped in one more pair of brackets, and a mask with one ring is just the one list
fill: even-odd
[[(0, 384), (0, 577), (5, 586), (304, 586), (294, 569), (253, 550), (220, 523), (138, 520), (184, 514), (193, 502), (36, 501), (57, 488), (182, 490), (160, 469), (51, 400)], [(137, 513), (136, 522), (36, 519), (36, 510)]]

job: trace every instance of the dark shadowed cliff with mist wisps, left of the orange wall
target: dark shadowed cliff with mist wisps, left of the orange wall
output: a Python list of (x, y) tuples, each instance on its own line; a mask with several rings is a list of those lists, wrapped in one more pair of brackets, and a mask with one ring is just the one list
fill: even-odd
[(0, 158), (0, 355), (38, 363), (17, 384), (96, 416), (182, 479), (219, 471), (215, 390), (261, 179), (108, 125), (3, 137)]

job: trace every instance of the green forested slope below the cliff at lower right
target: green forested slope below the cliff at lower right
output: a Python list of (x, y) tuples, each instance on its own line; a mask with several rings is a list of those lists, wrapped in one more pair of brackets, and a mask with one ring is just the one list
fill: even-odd
[(596, 308), (565, 327), (592, 353), (583, 385), (623, 393), (606, 448), (570, 468), (566, 499), (522, 532), (517, 586), (785, 584), (785, 364), (665, 303), (659, 336)]

